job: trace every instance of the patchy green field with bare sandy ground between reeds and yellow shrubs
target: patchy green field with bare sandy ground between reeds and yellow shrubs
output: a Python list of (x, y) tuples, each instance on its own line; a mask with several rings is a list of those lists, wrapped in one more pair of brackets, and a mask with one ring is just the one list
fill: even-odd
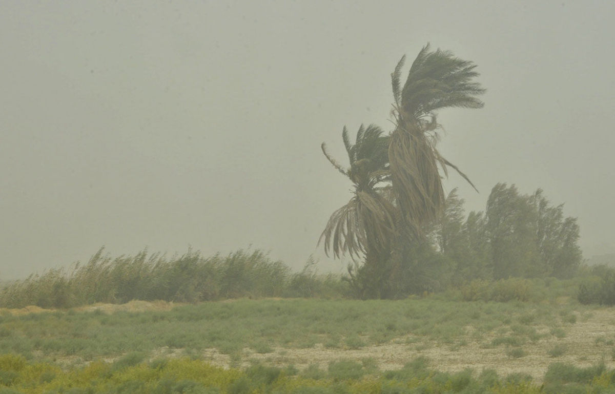
[(541, 384), (556, 363), (615, 368), (615, 312), (568, 297), (550, 302), (429, 296), (179, 305), (133, 301), (55, 311), (30, 307), (0, 312), (0, 353), (64, 371), (98, 361), (188, 357), (223, 368), (256, 363), (322, 378), (340, 362), (383, 376), (418, 359), (441, 372), (470, 368), (475, 377), (493, 371)]

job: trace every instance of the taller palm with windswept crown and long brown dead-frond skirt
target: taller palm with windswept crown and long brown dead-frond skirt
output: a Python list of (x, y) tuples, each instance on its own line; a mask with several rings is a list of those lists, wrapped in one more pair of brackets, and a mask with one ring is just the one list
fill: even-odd
[(404, 61), (405, 56), (391, 74), (395, 129), (389, 140), (389, 164), (403, 227), (415, 238), (422, 238), (421, 228), (438, 217), (446, 198), (438, 167), (445, 176), (447, 167), (454, 168), (474, 187), (458, 167), (438, 152), (437, 130), (441, 126), (436, 112), (447, 107), (482, 108), (477, 96), (485, 93), (485, 89), (472, 82), (478, 76), (474, 71), (476, 65), (454, 57), (449, 51), (431, 52), (429, 44), (412, 63), (402, 89)]

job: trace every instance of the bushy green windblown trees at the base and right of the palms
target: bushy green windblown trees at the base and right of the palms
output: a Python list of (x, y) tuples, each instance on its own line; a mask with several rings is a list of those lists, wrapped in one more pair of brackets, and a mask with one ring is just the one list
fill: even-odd
[(349, 267), (355, 296), (400, 298), (472, 280), (569, 279), (582, 261), (576, 218), (564, 216), (563, 205), (552, 205), (541, 189), (524, 195), (498, 183), (485, 211), (468, 215), (453, 189), (423, 232), (424, 240), (401, 245), (378, 264)]

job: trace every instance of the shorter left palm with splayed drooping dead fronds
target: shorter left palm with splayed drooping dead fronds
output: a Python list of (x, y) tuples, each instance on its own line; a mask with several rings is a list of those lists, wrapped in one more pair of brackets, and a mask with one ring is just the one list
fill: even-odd
[(353, 259), (365, 255), (366, 264), (378, 264), (391, 251), (397, 215), (390, 199), (389, 138), (375, 125), (361, 125), (354, 144), (346, 127), (342, 139), (349, 168), (331, 157), (325, 143), (322, 151), (333, 167), (351, 180), (353, 196), (331, 215), (319, 243), (324, 240), (327, 256), (330, 250), (335, 258), (347, 252)]

